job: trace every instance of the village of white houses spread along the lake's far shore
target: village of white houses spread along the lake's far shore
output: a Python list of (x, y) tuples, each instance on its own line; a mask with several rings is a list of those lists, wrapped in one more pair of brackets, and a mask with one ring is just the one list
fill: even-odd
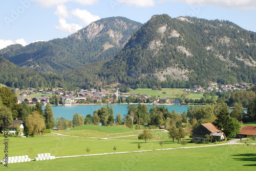
[[(210, 83), (206, 87), (201, 87), (200, 85), (195, 85), (194, 88), (185, 88), (183, 91), (187, 93), (205, 93), (205, 92), (232, 92), (238, 90), (247, 90), (255, 84), (246, 84), (245, 82), (235, 83), (233, 85), (218, 85), (217, 83)], [(27, 104), (36, 104), (39, 102), (42, 106), (50, 103), (50, 96), (53, 94), (58, 96), (60, 101), (59, 105), (78, 105), (78, 104), (113, 104), (113, 103), (132, 103), (131, 99), (134, 99), (135, 103), (161, 103), (161, 104), (174, 104), (179, 105), (184, 103), (184, 99), (172, 98), (172, 97), (152, 97), (148, 94), (132, 93), (134, 89), (130, 88), (129, 93), (119, 92), (118, 87), (115, 91), (113, 89), (96, 90), (91, 89), (80, 89), (77, 88), (74, 91), (64, 91), (63, 88), (58, 88), (56, 90), (31, 90), (31, 89), (15, 89), (16, 91), (21, 91), (22, 93), (17, 96), (18, 104), (22, 101)], [(33, 94), (42, 94), (41, 96), (26, 97)]]

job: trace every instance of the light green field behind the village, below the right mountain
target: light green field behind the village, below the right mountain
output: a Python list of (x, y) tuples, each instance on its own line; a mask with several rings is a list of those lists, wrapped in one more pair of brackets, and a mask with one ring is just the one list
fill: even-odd
[[(176, 97), (176, 94), (183, 94), (186, 93), (183, 91), (183, 88), (162, 88), (162, 90), (152, 90), (151, 88), (138, 88), (134, 91), (129, 93), (140, 93), (140, 94), (147, 94), (147, 95), (155, 95), (158, 97)], [(162, 92), (166, 92), (163, 94)], [(200, 99), (203, 96), (203, 93), (186, 93), (186, 98), (188, 99)]]

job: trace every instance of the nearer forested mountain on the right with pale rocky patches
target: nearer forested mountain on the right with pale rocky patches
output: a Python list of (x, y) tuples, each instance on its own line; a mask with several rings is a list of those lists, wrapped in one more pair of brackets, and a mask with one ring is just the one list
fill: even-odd
[(229, 21), (155, 15), (114, 59), (94, 68), (95, 75), (70, 74), (94, 84), (118, 81), (134, 88), (256, 82), (255, 47), (256, 33)]

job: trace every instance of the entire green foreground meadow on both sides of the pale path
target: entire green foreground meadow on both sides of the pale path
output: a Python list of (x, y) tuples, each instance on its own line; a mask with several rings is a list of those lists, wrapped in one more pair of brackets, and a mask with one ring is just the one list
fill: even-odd
[[(141, 130), (122, 126), (102, 127), (86, 125), (71, 130), (52, 131), (50, 134), (35, 137), (8, 137), (8, 156), (28, 155), (34, 159), (37, 154), (51, 153), (52, 156), (73, 156), (89, 154), (104, 154), (115, 152), (155, 150), (151, 152), (133, 152), (126, 154), (110, 154), (98, 156), (82, 156), (57, 158), (55, 160), (31, 161), (9, 164), (8, 168), (0, 165), (0, 170), (253, 170), (256, 166), (256, 146), (221, 145), (204, 146), (193, 149), (159, 150), (160, 141), (163, 149), (181, 148), (177, 140), (173, 142), (168, 132), (150, 131), (153, 139), (138, 140)], [(72, 135), (62, 136), (57, 135)], [(79, 137), (74, 137), (79, 136)], [(108, 137), (109, 138), (106, 138)], [(131, 136), (132, 135), (132, 136)], [(190, 141), (186, 137), (187, 141)], [(207, 144), (187, 143), (188, 146)], [(29, 150), (32, 149), (31, 154)], [(0, 150), (4, 150), (4, 137), (0, 137)], [(1, 152), (1, 156), (4, 153)]]

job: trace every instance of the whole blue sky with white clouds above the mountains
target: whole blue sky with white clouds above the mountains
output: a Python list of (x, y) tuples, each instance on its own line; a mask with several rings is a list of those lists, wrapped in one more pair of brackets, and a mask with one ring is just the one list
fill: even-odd
[(2, 0), (0, 49), (67, 37), (100, 18), (145, 23), (155, 14), (224, 19), (256, 32), (255, 0)]

